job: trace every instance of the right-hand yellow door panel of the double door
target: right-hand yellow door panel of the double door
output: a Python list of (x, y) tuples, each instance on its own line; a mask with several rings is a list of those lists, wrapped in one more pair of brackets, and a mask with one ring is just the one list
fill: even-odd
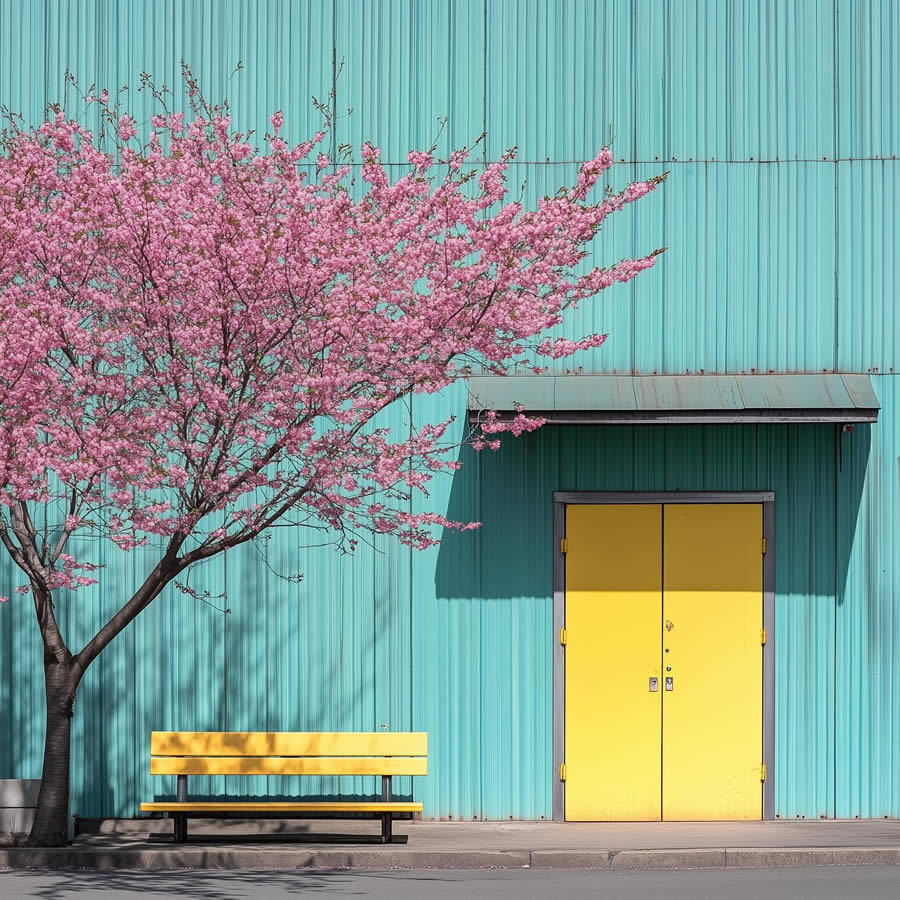
[(663, 518), (662, 817), (759, 819), (762, 507), (666, 505)]

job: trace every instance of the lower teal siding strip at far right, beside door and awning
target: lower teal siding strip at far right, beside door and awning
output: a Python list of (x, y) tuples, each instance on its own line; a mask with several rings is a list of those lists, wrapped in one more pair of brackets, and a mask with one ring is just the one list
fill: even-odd
[(845, 435), (838, 478), (835, 814), (900, 816), (900, 385), (873, 379), (885, 410)]

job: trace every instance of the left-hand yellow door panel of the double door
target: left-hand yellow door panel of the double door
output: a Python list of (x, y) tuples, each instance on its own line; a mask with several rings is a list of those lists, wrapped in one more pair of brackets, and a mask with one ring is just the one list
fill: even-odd
[(658, 820), (662, 507), (566, 510), (566, 819)]

